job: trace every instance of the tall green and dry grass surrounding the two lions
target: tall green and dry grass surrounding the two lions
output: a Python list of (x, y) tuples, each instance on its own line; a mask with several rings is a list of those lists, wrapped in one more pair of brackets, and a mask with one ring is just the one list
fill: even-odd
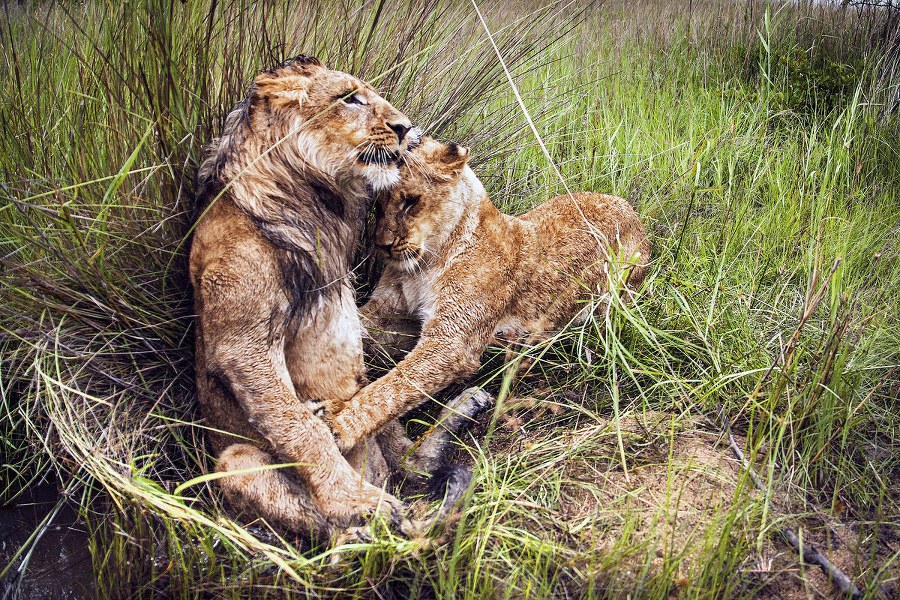
[(300, 4), (2, 9), (0, 494), (47, 478), (80, 502), (99, 597), (832, 594), (784, 525), (897, 593), (900, 80), (872, 7), (490, 3), (568, 186), (643, 216), (642, 298), (486, 357), (499, 408), (432, 538), (310, 550), (231, 522), (208, 482), (175, 493), (210, 467), (192, 175), (254, 73), (302, 52), (373, 82), (471, 146), (506, 211), (563, 190), (470, 5)]

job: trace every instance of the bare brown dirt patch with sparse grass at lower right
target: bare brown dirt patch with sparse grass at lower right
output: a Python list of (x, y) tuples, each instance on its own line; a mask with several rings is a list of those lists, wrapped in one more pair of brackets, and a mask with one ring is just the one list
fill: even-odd
[[(787, 525), (863, 593), (881, 581), (875, 597), (900, 598), (900, 527), (894, 522), (876, 528), (865, 516), (872, 507), (842, 506), (834, 514), (804, 502), (773, 471), (772, 502), (764, 510), (762, 494), (708, 420), (626, 412), (617, 431), (612, 416), (559, 416), (569, 410), (513, 399), (490, 448), (495, 455), (516, 456), (523, 469), (533, 469), (531, 476), (557, 491), (555, 504), (532, 502), (541, 519), (554, 524), (542, 535), (571, 547), (578, 571), (614, 596), (642, 582), (658, 587), (667, 578), (670, 598), (693, 596), (694, 582), (718, 570), (715, 576), (729, 580), (734, 590), (729, 597), (840, 597), (827, 576), (804, 564), (777, 533)], [(737, 443), (745, 440), (738, 436)], [(756, 458), (765, 481), (767, 463)], [(723, 540), (733, 543), (725, 547)], [(737, 558), (735, 548), (741, 549)], [(609, 558), (597, 560), (598, 555)], [(711, 556), (720, 559), (710, 562)]]

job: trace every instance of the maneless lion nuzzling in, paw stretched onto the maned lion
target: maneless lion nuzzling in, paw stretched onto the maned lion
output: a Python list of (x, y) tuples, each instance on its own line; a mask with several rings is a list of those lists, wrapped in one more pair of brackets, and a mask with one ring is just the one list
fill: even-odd
[(495, 336), (585, 318), (592, 297), (611, 285), (631, 296), (644, 280), (650, 244), (625, 200), (580, 192), (505, 215), (468, 157), (467, 148), (425, 138), (378, 200), (375, 243), (387, 266), (363, 324), (387, 332), (409, 315), (422, 327), (412, 351), (335, 415), (342, 448), (474, 373)]

